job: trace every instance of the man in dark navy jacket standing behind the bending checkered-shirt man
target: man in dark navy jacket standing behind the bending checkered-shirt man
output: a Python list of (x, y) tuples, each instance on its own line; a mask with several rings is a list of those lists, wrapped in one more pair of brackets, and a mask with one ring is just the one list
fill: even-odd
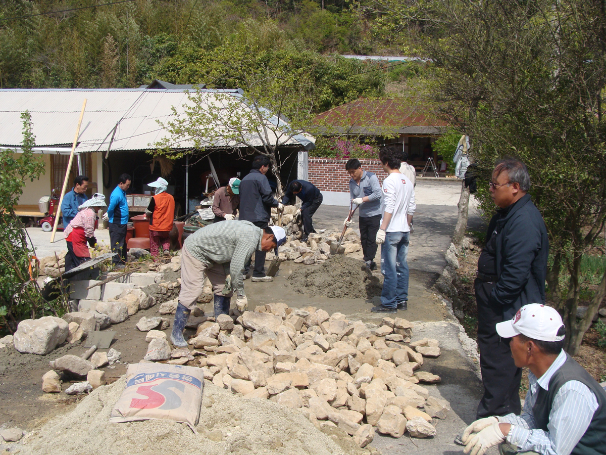
[[(271, 207), (282, 209), (282, 204), (273, 197), (269, 186), (269, 180), (265, 177), (269, 170), (271, 161), (265, 155), (259, 155), (253, 160), (253, 165), (240, 182), (240, 216), (241, 221), (250, 221), (261, 229), (269, 226)], [(250, 260), (248, 260), (244, 272), (248, 275)], [(252, 281), (272, 281), (272, 277), (265, 275), (265, 251), (255, 251), (255, 269)]]

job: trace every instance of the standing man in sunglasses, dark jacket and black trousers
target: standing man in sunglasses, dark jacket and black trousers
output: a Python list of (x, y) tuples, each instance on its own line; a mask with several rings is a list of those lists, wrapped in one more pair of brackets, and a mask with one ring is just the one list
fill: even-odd
[(513, 158), (497, 161), (488, 186), (499, 209), (488, 224), (474, 282), (484, 384), (478, 419), (521, 411), (522, 369), (511, 359), (508, 340), (499, 337), (496, 324), (510, 320), (528, 303), (545, 303), (549, 254), (543, 217), (527, 194), (530, 175), (525, 164)]

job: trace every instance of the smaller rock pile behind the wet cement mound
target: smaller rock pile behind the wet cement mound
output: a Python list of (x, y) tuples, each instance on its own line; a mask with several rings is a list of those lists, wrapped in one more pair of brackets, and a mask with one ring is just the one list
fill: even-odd
[[(287, 235), (287, 242), (278, 248), (278, 257), (282, 261), (295, 261), (305, 265), (321, 264), (331, 255), (331, 244), (337, 244), (342, 231), (322, 232), (320, 234), (310, 234), (307, 243), (302, 242), (303, 224), (301, 215), (296, 215), (296, 206), (285, 206), (282, 214), (281, 226), (284, 227)], [(271, 221), (278, 224), (278, 214), (276, 209), (271, 209)], [(362, 244), (359, 235), (356, 235), (353, 229), (348, 228), (345, 231), (341, 250), (339, 254), (350, 254), (360, 251)], [(335, 248), (332, 254), (335, 254)]]

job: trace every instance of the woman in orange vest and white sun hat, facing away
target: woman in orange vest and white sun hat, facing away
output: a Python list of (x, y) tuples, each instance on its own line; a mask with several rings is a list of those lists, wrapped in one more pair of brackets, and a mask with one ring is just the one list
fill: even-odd
[(166, 192), (168, 182), (162, 177), (148, 183), (147, 186), (156, 189), (155, 195), (151, 198), (150, 204), (145, 210), (145, 215), (150, 219), (151, 257), (157, 258), (160, 245), (162, 245), (162, 251), (168, 251), (170, 246), (168, 233), (173, 229), (175, 198)]

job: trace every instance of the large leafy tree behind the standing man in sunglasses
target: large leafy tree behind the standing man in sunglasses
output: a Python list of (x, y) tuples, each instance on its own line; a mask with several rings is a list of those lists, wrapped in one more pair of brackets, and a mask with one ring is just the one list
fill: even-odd
[[(385, 5), (397, 13), (402, 4)], [(576, 317), (581, 261), (603, 238), (606, 221), (604, 4), (411, 0), (405, 6), (403, 24), (425, 24), (415, 38), (433, 62), (433, 98), (473, 141), (481, 181), (490, 179), (494, 161), (504, 155), (530, 170), (553, 257), (548, 299), (564, 317), (567, 351), (576, 354), (606, 295), (605, 274), (585, 299), (587, 314)], [(411, 11), (415, 15), (407, 16)], [(479, 197), (492, 211), (486, 195)]]

